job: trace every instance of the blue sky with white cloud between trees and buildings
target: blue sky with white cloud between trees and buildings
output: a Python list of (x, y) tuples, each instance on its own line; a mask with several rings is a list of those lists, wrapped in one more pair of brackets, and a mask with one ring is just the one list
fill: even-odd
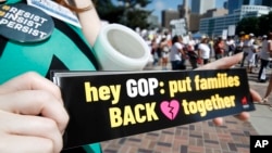
[[(223, 8), (223, 3), (225, 0), (215, 0), (217, 8)], [(116, 0), (113, 0), (115, 3)], [(178, 4), (182, 4), (183, 0), (152, 0), (152, 3), (147, 5), (148, 10), (153, 10), (152, 14), (161, 20), (161, 11), (162, 10), (176, 10)]]

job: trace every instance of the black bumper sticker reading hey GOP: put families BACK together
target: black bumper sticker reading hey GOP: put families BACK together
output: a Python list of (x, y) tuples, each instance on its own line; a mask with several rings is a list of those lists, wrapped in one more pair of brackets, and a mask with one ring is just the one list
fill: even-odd
[(53, 73), (64, 149), (254, 111), (245, 69)]

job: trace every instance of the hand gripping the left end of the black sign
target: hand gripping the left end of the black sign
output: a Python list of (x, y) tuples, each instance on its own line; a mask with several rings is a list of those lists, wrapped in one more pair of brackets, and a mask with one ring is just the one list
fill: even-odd
[(36, 73), (0, 86), (0, 152), (49, 153), (62, 150), (69, 122), (60, 89)]

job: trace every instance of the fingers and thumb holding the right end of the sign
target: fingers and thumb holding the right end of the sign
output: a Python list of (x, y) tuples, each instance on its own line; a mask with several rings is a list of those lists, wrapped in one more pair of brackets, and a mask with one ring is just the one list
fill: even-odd
[[(203, 65), (203, 66), (199, 67), (198, 69), (225, 69), (225, 68), (231, 68), (232, 66), (237, 64), (242, 60), (242, 58), (243, 58), (243, 53), (238, 53), (238, 54), (235, 54), (233, 56), (227, 56), (227, 58), (217, 60), (217, 61), (214, 61), (212, 63), (209, 63), (207, 65)], [(250, 93), (251, 93), (251, 97), (252, 97), (254, 101), (257, 101), (257, 102), (261, 101), (261, 95), (258, 92), (250, 89)], [(243, 112), (239, 115), (237, 115), (236, 117), (239, 118), (240, 120), (247, 120), (249, 118), (249, 113)], [(222, 117), (214, 118), (213, 123), (215, 125), (220, 126), (220, 125), (223, 124), (223, 118)]]

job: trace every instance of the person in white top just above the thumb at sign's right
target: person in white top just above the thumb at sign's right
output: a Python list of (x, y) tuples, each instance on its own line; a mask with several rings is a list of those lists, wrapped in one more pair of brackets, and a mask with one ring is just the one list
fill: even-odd
[(198, 56), (201, 59), (201, 64), (207, 64), (210, 61), (211, 49), (209, 47), (209, 38), (202, 38), (198, 44)]

